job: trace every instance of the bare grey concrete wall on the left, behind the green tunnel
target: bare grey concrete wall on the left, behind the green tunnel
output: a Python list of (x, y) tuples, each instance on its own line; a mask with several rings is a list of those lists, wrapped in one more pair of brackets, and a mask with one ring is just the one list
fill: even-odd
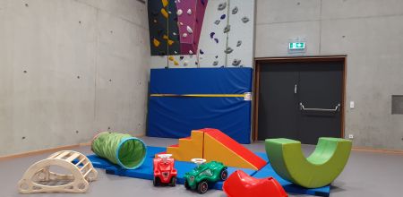
[(137, 0), (0, 0), (0, 156), (144, 134), (148, 40)]

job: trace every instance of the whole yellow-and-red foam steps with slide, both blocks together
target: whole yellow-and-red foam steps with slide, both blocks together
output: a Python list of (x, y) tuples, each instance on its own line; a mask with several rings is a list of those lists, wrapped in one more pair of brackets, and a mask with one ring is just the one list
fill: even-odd
[(167, 153), (181, 161), (205, 158), (208, 162), (215, 160), (228, 167), (254, 170), (264, 167), (267, 163), (227, 134), (209, 128), (192, 131), (190, 138), (179, 139), (179, 144), (167, 147)]

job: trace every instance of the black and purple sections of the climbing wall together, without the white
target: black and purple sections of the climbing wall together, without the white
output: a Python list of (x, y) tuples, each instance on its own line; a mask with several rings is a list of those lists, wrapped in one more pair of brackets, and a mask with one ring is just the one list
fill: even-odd
[(148, 4), (151, 56), (193, 55), (208, 0), (160, 0)]

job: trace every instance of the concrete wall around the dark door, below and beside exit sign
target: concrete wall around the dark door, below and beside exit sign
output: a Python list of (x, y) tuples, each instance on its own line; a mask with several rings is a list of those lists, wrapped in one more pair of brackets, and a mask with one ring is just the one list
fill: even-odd
[[(354, 145), (403, 150), (403, 116), (391, 95), (403, 95), (403, 1), (258, 0), (255, 56), (347, 55), (346, 135)], [(304, 39), (304, 55), (287, 54)]]

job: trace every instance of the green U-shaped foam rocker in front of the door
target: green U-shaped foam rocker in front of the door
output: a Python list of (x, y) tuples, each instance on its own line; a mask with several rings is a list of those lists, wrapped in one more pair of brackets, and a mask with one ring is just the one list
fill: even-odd
[(339, 138), (320, 138), (311, 156), (304, 157), (301, 142), (284, 138), (265, 141), (270, 165), (279, 176), (306, 188), (333, 182), (343, 171), (352, 142)]

